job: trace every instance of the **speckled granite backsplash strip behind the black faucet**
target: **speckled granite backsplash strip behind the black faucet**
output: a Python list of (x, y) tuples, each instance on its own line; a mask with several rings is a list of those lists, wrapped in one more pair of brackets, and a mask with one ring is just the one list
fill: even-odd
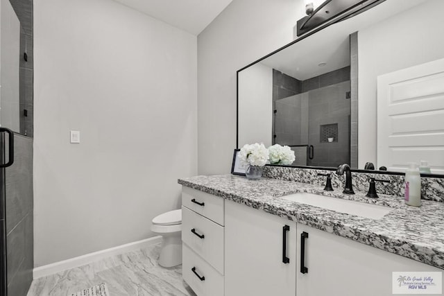
[[(341, 191), (345, 184), (345, 177), (339, 176), (334, 171), (318, 170), (314, 168), (291, 168), (284, 166), (265, 166), (263, 176), (287, 180), (293, 182), (302, 182), (315, 184), (319, 187), (325, 186), (325, 177), (318, 176), (318, 173), (332, 173), (332, 186), (335, 191)], [(404, 175), (388, 175), (375, 173), (352, 173), (353, 187), (357, 191), (368, 191), (368, 182), (371, 177), (377, 177), (381, 180), (389, 180), (390, 183), (376, 183), (378, 193), (404, 196)], [(421, 177), (422, 198), (444, 202), (444, 178)]]

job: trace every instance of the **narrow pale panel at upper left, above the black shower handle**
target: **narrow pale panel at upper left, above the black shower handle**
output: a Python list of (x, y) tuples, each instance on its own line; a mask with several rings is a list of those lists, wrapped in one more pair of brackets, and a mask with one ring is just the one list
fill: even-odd
[(9, 0), (1, 0), (0, 123), (20, 131), (20, 21)]

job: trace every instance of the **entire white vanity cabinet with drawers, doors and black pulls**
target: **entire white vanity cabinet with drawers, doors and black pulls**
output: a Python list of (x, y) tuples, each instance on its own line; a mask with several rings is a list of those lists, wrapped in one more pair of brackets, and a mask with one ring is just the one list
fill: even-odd
[(443, 271), (185, 186), (182, 204), (182, 275), (198, 296), (388, 296), (393, 272)]

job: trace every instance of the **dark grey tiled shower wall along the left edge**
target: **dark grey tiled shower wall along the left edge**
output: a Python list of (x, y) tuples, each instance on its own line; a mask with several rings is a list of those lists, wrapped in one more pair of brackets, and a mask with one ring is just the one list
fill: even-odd
[[(33, 280), (33, 0), (10, 0), (20, 21), (20, 133), (6, 168), (8, 295), (25, 296)], [(27, 55), (27, 61), (24, 58)], [(27, 115), (24, 115), (24, 110)]]

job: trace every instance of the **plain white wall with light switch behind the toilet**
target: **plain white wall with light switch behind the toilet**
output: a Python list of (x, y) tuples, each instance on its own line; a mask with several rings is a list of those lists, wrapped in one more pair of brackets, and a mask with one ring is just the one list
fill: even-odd
[(197, 173), (197, 45), (110, 0), (34, 10), (37, 267), (153, 236), (180, 207), (177, 179)]

